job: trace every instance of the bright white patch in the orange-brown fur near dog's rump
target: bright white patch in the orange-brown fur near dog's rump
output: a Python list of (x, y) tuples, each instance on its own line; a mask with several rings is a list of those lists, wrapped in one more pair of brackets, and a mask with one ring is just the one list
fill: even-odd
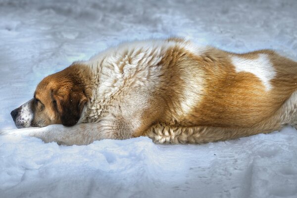
[(272, 85), (270, 84), (270, 80), (275, 77), (276, 71), (267, 54), (260, 53), (259, 57), (256, 59), (233, 56), (232, 63), (235, 66), (236, 72), (249, 72), (254, 74), (262, 81), (266, 91), (271, 90)]

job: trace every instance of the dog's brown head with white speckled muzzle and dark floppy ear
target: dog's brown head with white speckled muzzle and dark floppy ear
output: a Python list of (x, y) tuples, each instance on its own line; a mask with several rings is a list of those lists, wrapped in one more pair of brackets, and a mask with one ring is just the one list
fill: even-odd
[(80, 78), (73, 68), (68, 67), (43, 79), (36, 88), (34, 98), (11, 111), (16, 127), (75, 125), (88, 101)]

